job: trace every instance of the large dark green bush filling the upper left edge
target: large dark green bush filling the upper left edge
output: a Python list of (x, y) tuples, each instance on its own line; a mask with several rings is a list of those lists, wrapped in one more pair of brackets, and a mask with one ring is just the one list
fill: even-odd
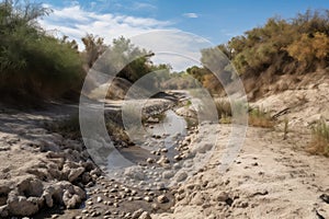
[(47, 35), (36, 22), (48, 12), (38, 4), (0, 3), (2, 99), (58, 97), (81, 85), (79, 53), (70, 42)]

